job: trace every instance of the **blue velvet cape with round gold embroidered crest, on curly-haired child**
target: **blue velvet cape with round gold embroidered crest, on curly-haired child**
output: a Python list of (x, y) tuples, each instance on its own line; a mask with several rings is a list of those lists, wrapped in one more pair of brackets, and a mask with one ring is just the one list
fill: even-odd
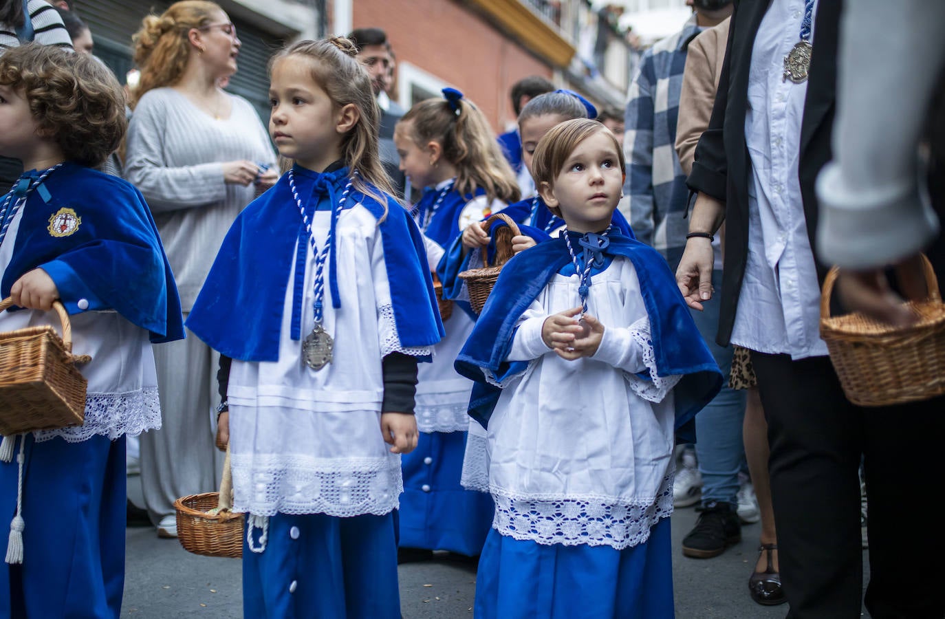
[[(22, 208), (0, 284), (4, 299), (22, 275), (41, 267), (69, 314), (112, 309), (146, 329), (152, 342), (183, 338), (177, 285), (145, 198), (132, 184), (67, 162), (29, 193)], [(75, 232), (54, 236), (52, 219), (61, 209), (75, 211), (79, 223)], [(12, 241), (8, 236), (4, 242)], [(79, 309), (79, 300), (88, 307)]]

